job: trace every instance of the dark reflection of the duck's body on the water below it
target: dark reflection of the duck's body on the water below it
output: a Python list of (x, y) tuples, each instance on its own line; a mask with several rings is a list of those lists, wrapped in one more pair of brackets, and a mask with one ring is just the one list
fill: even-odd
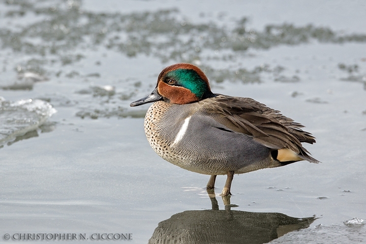
[(304, 229), (315, 217), (293, 218), (278, 212), (190, 210), (158, 224), (148, 243), (266, 243)]

